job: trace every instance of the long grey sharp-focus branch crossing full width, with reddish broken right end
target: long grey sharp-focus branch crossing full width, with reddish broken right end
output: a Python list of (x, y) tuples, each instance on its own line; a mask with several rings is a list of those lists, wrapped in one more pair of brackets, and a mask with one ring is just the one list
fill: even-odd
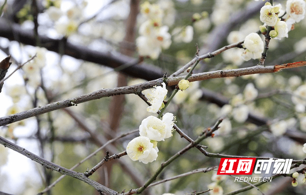
[[(286, 68), (296, 68), (299, 66), (306, 66), (305, 61), (295, 62), (295, 63), (287, 63), (285, 65), (275, 65), (275, 66), (253, 66), (249, 68), (239, 68), (232, 70), (218, 70), (212, 72), (204, 72), (191, 75), (188, 80), (196, 81), (196, 80), (206, 80), (212, 78), (222, 78), (222, 77), (233, 77), (233, 76), (242, 76), (249, 74), (258, 74), (258, 73), (273, 73), (280, 71)], [(172, 77), (167, 79), (167, 85), (173, 86), (177, 85), (180, 80), (184, 79), (184, 76), (181, 77)], [(70, 107), (72, 105), (77, 105), (79, 103), (100, 99), (103, 97), (110, 97), (121, 94), (138, 94), (145, 89), (152, 88), (157, 85), (161, 85), (163, 82), (163, 78), (159, 78), (156, 80), (151, 80), (147, 82), (143, 82), (134, 86), (126, 86), (120, 88), (112, 88), (112, 89), (101, 89), (89, 94), (84, 94), (78, 97), (46, 104), (44, 106), (36, 107), (21, 113), (17, 113), (14, 115), (6, 116), (0, 118), (0, 126), (7, 125), (10, 123), (14, 123), (17, 121), (21, 121), (23, 119), (28, 119), (30, 117), (38, 116), (47, 112), (51, 112), (53, 110), (61, 109), (64, 107)]]

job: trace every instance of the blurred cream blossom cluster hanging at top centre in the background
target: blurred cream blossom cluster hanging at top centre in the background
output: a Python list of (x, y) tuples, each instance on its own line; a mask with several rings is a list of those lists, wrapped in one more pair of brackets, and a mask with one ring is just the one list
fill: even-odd
[(139, 27), (140, 36), (136, 39), (139, 55), (157, 59), (162, 49), (171, 45), (169, 27), (162, 26), (163, 10), (157, 4), (145, 2), (140, 6), (141, 14), (146, 18)]

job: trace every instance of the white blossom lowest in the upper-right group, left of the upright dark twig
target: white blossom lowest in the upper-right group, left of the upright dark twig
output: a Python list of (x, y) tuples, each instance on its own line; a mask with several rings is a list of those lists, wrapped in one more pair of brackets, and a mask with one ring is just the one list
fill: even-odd
[(243, 45), (246, 48), (242, 53), (244, 60), (260, 58), (264, 51), (264, 42), (257, 33), (250, 33), (246, 36)]

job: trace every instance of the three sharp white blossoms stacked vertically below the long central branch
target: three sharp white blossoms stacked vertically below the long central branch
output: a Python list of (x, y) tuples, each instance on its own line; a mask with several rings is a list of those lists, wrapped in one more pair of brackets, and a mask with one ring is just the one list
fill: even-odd
[[(163, 82), (162, 86), (155, 86), (151, 94), (148, 94), (149, 103), (147, 111), (157, 113), (163, 107), (163, 101), (167, 96), (168, 90)], [(126, 153), (132, 160), (139, 160), (148, 163), (156, 160), (159, 151), (157, 142), (165, 141), (165, 138), (172, 136), (175, 117), (171, 113), (166, 113), (162, 120), (148, 116), (143, 119), (139, 126), (139, 137), (134, 138), (126, 147)]]

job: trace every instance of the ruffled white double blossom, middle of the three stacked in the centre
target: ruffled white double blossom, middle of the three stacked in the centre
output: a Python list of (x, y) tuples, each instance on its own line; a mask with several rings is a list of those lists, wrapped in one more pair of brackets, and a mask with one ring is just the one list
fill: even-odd
[(174, 117), (171, 113), (166, 113), (162, 120), (149, 116), (142, 120), (139, 126), (139, 134), (148, 137), (150, 140), (165, 141), (165, 138), (172, 136), (173, 123)]

